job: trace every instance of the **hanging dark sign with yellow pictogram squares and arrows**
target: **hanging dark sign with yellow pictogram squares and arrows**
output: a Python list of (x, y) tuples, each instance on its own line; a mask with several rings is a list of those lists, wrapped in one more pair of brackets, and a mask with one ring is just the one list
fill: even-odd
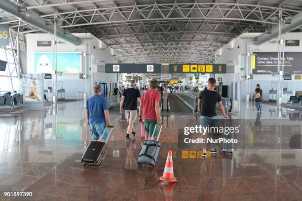
[(226, 64), (169, 64), (169, 73), (226, 73)]

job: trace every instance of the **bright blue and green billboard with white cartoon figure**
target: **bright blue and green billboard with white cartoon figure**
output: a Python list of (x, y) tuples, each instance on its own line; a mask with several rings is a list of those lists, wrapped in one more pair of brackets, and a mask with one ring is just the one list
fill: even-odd
[[(51, 52), (35, 52), (34, 67), (35, 73), (51, 73), (54, 64), (54, 55), (51, 63)], [(78, 52), (58, 52), (57, 53), (57, 72), (80, 73), (81, 55)]]

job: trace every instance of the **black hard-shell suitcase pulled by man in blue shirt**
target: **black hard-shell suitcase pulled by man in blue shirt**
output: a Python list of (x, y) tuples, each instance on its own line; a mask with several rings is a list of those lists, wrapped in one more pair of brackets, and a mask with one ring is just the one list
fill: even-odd
[[(85, 150), (83, 157), (81, 159), (81, 163), (83, 164), (83, 166), (95, 166), (95, 167), (99, 167), (102, 163), (102, 161), (104, 160), (106, 153), (107, 153), (107, 142), (109, 140), (109, 137), (112, 133), (113, 130), (113, 126), (110, 126), (110, 131), (109, 131), (109, 136), (107, 137), (105, 142), (101, 142), (101, 141), (91, 141), (87, 147), (87, 149)], [(108, 128), (104, 129), (104, 132), (102, 134), (102, 136), (100, 137), (100, 139), (103, 139), (103, 136), (105, 134), (105, 131)]]

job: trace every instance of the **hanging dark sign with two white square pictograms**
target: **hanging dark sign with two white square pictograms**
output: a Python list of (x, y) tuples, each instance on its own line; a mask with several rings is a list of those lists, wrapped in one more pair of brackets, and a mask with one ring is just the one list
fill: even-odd
[(105, 64), (106, 73), (161, 73), (161, 64)]

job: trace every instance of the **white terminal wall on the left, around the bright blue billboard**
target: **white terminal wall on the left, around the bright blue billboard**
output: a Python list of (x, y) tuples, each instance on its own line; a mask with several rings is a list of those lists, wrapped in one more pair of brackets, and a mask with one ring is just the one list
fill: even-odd
[[(75, 33), (76, 36), (87, 39), (87, 47), (85, 47), (85, 40), (79, 46), (75, 46), (69, 42), (64, 44), (57, 44), (57, 52), (79, 52), (79, 53), (87, 53), (87, 67), (91, 67), (92, 70), (87, 70), (88, 79), (87, 79), (87, 97), (92, 95), (92, 84), (91, 78), (98, 77), (98, 82), (106, 82), (108, 84), (108, 88), (110, 90), (110, 84), (113, 86), (114, 83), (117, 83), (116, 74), (106, 74), (104, 72), (97, 72), (95, 70), (94, 76), (92, 76), (93, 68), (105, 65), (105, 63), (101, 63), (100, 61), (104, 61), (106, 63), (115, 63), (116, 58), (112, 56), (112, 48), (107, 47), (101, 42), (99, 39), (94, 37), (90, 33)], [(48, 33), (32, 33), (26, 35), (27, 39), (27, 68), (23, 69), (23, 73), (35, 73), (34, 72), (34, 52), (51, 52), (51, 47), (38, 47), (38, 40), (51, 40), (52, 36)], [(63, 41), (58, 38), (58, 41)], [(104, 49), (100, 49), (100, 46)], [(105, 49), (106, 48), (106, 49)], [(82, 57), (83, 58), (83, 57)], [(98, 62), (97, 62), (98, 61)], [(51, 80), (44, 80), (44, 89), (47, 89), (48, 86), (51, 86)], [(58, 89), (63, 87), (66, 91), (66, 99), (76, 99), (77, 92), (83, 91), (83, 79), (79, 78), (79, 74), (62, 74), (61, 76), (57, 76), (57, 86)], [(113, 88), (112, 88), (113, 91)]]

